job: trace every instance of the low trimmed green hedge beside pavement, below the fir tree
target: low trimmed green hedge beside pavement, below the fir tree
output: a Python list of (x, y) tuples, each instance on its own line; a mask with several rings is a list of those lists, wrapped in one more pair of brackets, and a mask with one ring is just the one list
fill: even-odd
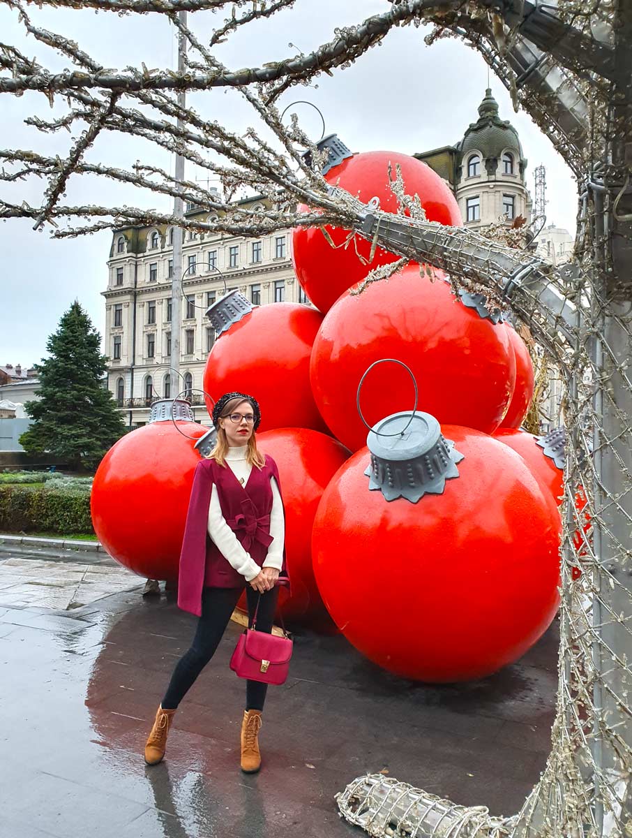
[(0, 484), (3, 532), (92, 533), (90, 487)]

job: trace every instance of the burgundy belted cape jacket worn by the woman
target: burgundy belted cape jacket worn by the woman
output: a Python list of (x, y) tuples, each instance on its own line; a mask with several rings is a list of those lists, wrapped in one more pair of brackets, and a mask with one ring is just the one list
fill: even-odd
[[(202, 589), (207, 587), (245, 587), (246, 579), (238, 573), (208, 535), (208, 507), (213, 484), (217, 485), (219, 504), (224, 520), (234, 531), (244, 550), (254, 561), (263, 565), (272, 543), (270, 512), (274, 477), (280, 491), (279, 470), (275, 461), (265, 455), (265, 466), (250, 472), (245, 486), (239, 483), (232, 468), (219, 466), (213, 459), (200, 460), (193, 475), (191, 499), (188, 504), (187, 524), (184, 529), (177, 604), (184, 611), (202, 616)], [(285, 546), (281, 583), (289, 579), (285, 567)]]

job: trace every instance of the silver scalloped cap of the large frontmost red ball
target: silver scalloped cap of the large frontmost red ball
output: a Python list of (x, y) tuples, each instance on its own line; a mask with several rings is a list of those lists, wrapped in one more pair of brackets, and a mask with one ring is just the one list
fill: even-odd
[(379, 489), (389, 501), (405, 498), (413, 504), (424, 494), (442, 494), (445, 481), (459, 477), (456, 463), (465, 457), (434, 416), (417, 411), (393, 413), (375, 424), (367, 446), (368, 488)]

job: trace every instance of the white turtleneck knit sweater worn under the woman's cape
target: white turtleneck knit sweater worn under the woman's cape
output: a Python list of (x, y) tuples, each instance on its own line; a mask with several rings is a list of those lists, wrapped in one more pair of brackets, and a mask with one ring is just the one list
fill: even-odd
[[(244, 486), (248, 482), (252, 466), (246, 462), (247, 446), (229, 448), (226, 455), (226, 465), (230, 468), (235, 477)], [(270, 512), (270, 535), (273, 538), (272, 544), (268, 547), (268, 555), (265, 557), (264, 567), (275, 567), (280, 571), (283, 566), (283, 546), (285, 542), (285, 520), (283, 516), (283, 503), (279, 487), (275, 478), (270, 478), (272, 488), (272, 510)], [(219, 504), (217, 486), (213, 484), (211, 492), (211, 503), (208, 507), (208, 535), (218, 547), (219, 552), (234, 569), (250, 582), (259, 575), (259, 565), (250, 556), (248, 551), (241, 546), (237, 536), (222, 515), (222, 507)]]

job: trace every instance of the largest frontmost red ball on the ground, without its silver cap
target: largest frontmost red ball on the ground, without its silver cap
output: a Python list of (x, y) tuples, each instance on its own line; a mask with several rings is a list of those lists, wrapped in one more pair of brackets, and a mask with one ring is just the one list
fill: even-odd
[(369, 491), (368, 449), (323, 494), (314, 572), (342, 634), (396, 675), (451, 682), (516, 660), (555, 615), (561, 521), (520, 457), (443, 427), (465, 454), (444, 494), (388, 503)]

